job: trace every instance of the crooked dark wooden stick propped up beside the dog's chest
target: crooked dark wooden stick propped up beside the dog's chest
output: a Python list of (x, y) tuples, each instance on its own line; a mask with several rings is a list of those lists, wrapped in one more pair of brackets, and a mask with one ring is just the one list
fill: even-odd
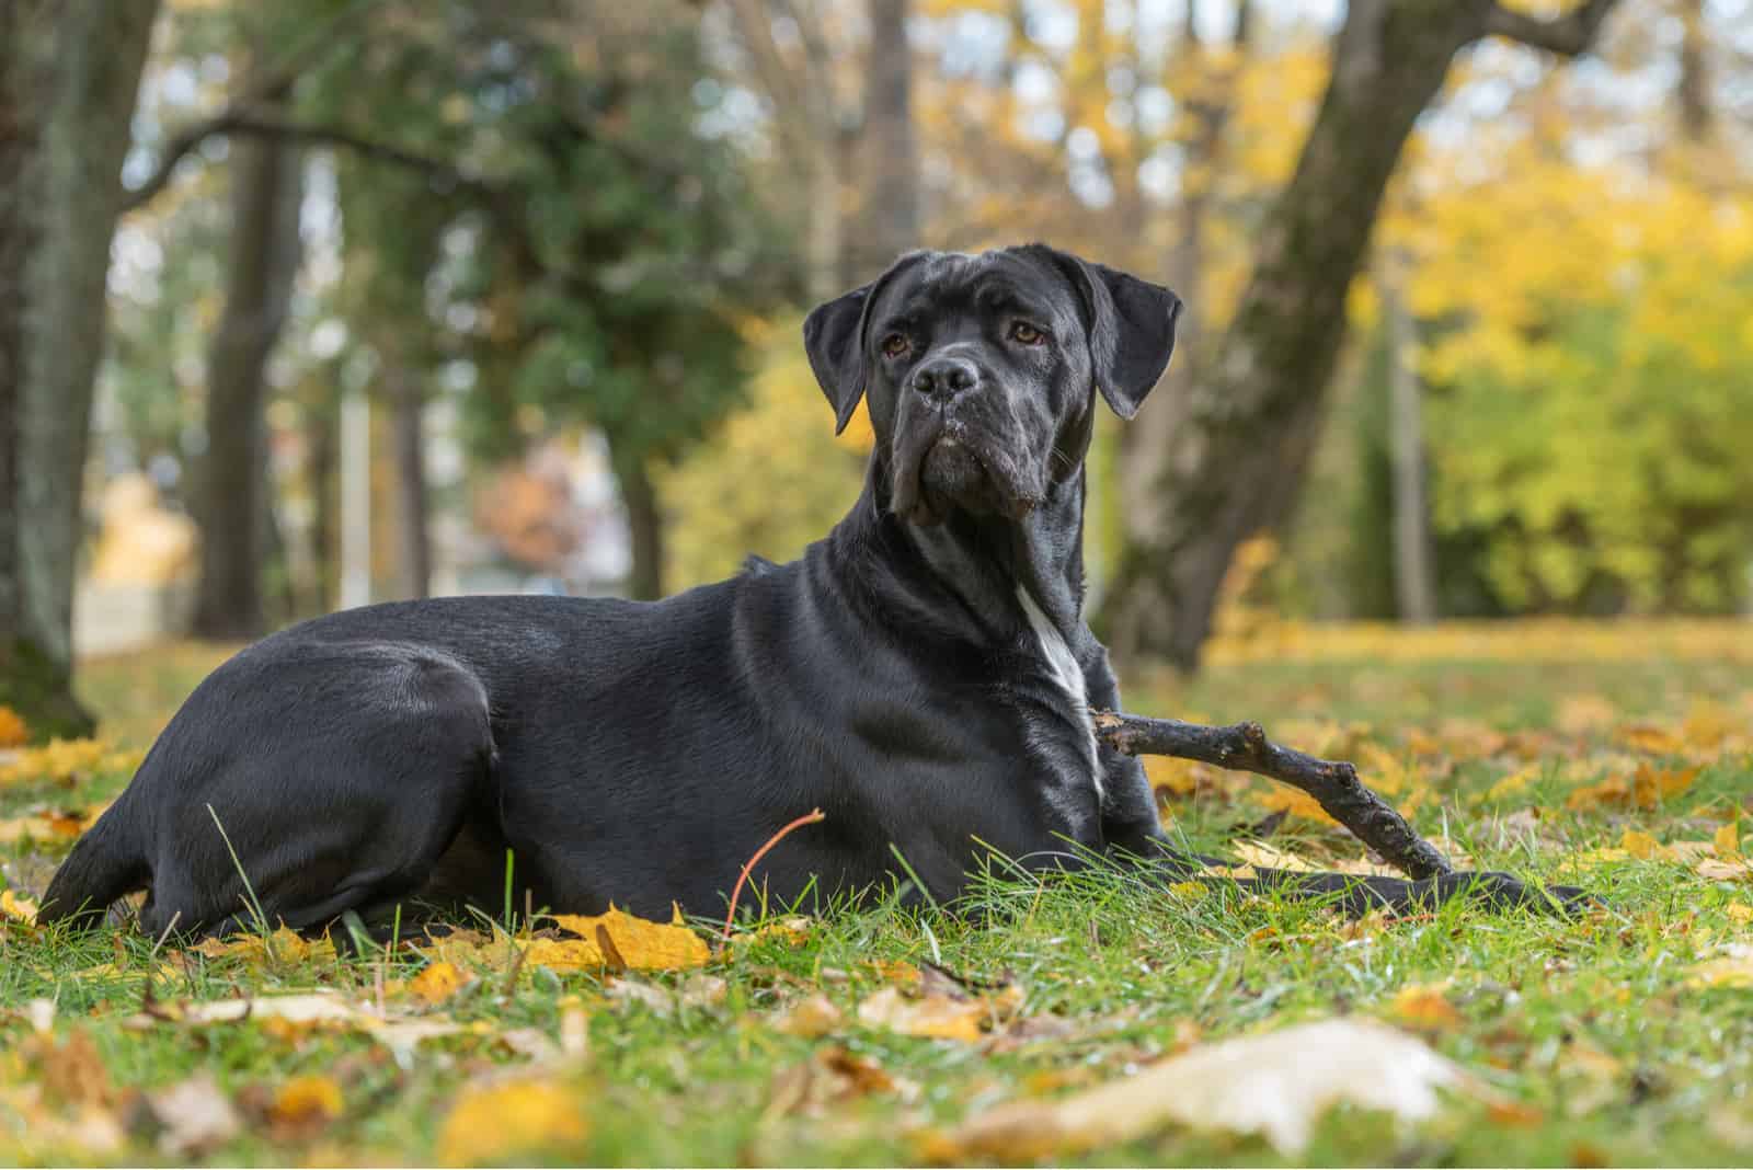
[(1173, 755), (1283, 781), (1315, 797), (1336, 821), (1408, 878), (1451, 872), (1436, 846), (1413, 832), (1406, 818), (1366, 788), (1343, 760), (1317, 760), (1266, 737), (1259, 723), (1206, 727), (1182, 720), (1096, 711), (1096, 737), (1122, 755)]

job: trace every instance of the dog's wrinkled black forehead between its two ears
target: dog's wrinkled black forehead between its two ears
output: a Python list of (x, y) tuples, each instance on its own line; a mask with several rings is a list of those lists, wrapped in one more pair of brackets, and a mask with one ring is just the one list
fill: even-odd
[(885, 329), (929, 329), (954, 317), (1017, 315), (1071, 338), (1089, 329), (1082, 298), (1066, 273), (1013, 250), (927, 252), (878, 289), (864, 343)]

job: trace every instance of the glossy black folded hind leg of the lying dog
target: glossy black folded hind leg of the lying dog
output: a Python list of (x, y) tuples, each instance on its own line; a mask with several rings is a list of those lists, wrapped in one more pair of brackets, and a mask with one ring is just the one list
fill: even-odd
[(214, 681), (167, 729), (163, 774), (135, 779), (154, 821), (147, 932), (314, 932), (393, 907), (491, 816), (487, 695), (449, 655), (295, 645)]

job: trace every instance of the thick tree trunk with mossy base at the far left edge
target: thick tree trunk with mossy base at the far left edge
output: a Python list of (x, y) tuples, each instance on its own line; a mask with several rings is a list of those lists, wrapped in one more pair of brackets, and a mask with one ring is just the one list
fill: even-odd
[(74, 574), (121, 159), (156, 0), (0, 4), (0, 702), (81, 734)]

